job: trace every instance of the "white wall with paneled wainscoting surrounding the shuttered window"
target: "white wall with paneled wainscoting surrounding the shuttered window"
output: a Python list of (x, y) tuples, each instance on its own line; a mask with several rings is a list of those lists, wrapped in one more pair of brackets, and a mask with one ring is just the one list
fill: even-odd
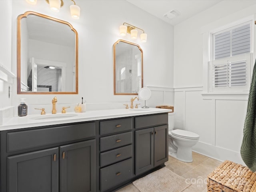
[(243, 163), (240, 146), (248, 95), (203, 98), (202, 30), (255, 13), (255, 0), (222, 1), (174, 27), (175, 127), (199, 134), (193, 149), (219, 160)]

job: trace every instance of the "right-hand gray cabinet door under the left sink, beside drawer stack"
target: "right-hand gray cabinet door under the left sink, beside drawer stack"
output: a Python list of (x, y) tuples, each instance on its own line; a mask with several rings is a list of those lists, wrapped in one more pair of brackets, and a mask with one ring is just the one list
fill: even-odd
[(60, 192), (95, 192), (95, 139), (60, 146)]

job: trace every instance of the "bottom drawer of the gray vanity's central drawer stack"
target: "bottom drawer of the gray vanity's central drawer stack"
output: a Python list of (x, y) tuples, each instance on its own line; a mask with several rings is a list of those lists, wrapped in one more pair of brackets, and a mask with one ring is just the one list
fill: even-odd
[(100, 190), (107, 190), (130, 178), (132, 178), (132, 158), (100, 169)]

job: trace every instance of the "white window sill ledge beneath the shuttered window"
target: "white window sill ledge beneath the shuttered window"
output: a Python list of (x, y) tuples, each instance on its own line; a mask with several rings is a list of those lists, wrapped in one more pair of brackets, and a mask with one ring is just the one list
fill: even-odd
[(203, 99), (248, 100), (249, 91), (244, 92), (202, 92)]

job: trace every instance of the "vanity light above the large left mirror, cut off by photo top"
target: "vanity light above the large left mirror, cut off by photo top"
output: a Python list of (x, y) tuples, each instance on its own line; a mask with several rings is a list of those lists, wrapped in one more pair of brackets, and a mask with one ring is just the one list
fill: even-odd
[[(50, 9), (53, 12), (60, 12), (60, 8), (64, 5), (63, 0), (45, 0), (49, 5)], [(70, 14), (73, 19), (79, 19), (80, 18), (80, 7), (76, 5), (76, 2), (74, 0), (71, 0), (74, 2), (74, 5), (70, 5)], [(29, 4), (35, 5), (37, 0), (26, 0)]]

